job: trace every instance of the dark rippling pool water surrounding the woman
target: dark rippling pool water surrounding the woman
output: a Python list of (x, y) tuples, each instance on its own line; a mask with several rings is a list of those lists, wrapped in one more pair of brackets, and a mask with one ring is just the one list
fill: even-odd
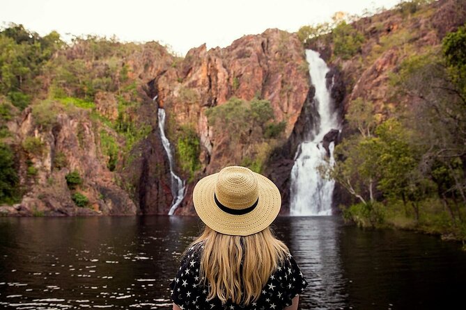
[[(464, 309), (457, 243), (336, 217), (274, 227), (309, 282), (301, 309)], [(196, 218), (0, 218), (0, 308), (170, 309), (178, 256), (198, 232)]]

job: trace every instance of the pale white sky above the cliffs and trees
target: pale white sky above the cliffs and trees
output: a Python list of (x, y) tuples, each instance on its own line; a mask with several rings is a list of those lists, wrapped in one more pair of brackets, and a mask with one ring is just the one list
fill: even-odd
[(267, 28), (294, 32), (327, 22), (336, 11), (361, 14), (400, 0), (0, 0), (0, 23), (23, 24), (46, 35), (116, 35), (123, 41), (159, 41), (185, 56), (192, 47), (226, 47)]

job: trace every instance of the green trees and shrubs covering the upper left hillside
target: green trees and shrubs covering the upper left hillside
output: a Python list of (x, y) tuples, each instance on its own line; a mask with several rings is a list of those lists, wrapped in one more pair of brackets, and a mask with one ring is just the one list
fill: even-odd
[[(123, 44), (115, 38), (88, 35), (67, 44), (55, 31), (40, 36), (17, 24), (0, 29), (0, 203), (13, 204), (22, 196), (19, 149), (13, 147), (18, 142), (6, 124), (28, 106), (41, 132), (54, 128), (59, 113), (76, 119), (82, 118), (82, 112), (88, 113), (84, 122), (90, 119), (98, 129), (95, 133), (107, 168), (114, 171), (128, 162), (124, 158), (152, 130), (146, 121), (138, 120), (142, 100), (137, 83), (141, 82), (130, 76), (126, 63), (128, 57), (144, 48), (166, 52), (156, 42)], [(115, 114), (98, 110), (99, 100), (114, 103)], [(83, 130), (79, 121), (76, 134), (79, 146), (85, 149), (88, 141)], [(26, 154), (26, 174), (34, 181), (38, 174), (34, 158), (44, 155), (44, 142), (37, 136), (27, 136), (17, 146)], [(52, 167), (67, 167), (65, 154), (55, 155)], [(82, 199), (76, 201), (82, 204)]]

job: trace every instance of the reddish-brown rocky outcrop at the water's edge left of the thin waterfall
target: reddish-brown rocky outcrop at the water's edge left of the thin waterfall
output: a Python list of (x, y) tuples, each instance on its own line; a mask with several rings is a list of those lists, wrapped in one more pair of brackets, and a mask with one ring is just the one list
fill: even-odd
[[(114, 173), (102, 160), (98, 124), (89, 117), (89, 111), (60, 110), (50, 106), (52, 123), (38, 124), (32, 108), (26, 108), (17, 124), (20, 141), (33, 141), (31, 146), (17, 145), (20, 165), (20, 183), (29, 187), (20, 204), (3, 211), (11, 215), (121, 215), (136, 214), (127, 191), (116, 186)], [(56, 115), (54, 115), (56, 113)], [(23, 164), (24, 163), (24, 164)], [(25, 166), (25, 163), (29, 163)], [(66, 175), (76, 171), (82, 183), (70, 190)], [(28, 176), (33, 174), (33, 177)], [(79, 207), (72, 201), (73, 193), (88, 198), (88, 207)]]

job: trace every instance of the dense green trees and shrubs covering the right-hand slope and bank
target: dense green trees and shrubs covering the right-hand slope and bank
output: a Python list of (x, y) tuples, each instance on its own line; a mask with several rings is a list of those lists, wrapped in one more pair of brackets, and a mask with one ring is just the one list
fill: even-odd
[[(398, 10), (413, 14), (422, 4), (401, 3)], [(354, 42), (332, 57), (352, 56)], [(399, 104), (350, 102), (345, 119), (352, 134), (337, 145), (336, 164), (321, 172), (354, 197), (343, 207), (346, 220), (466, 240), (466, 25), (431, 47), (396, 42), (403, 61), (391, 72), (387, 99)]]

